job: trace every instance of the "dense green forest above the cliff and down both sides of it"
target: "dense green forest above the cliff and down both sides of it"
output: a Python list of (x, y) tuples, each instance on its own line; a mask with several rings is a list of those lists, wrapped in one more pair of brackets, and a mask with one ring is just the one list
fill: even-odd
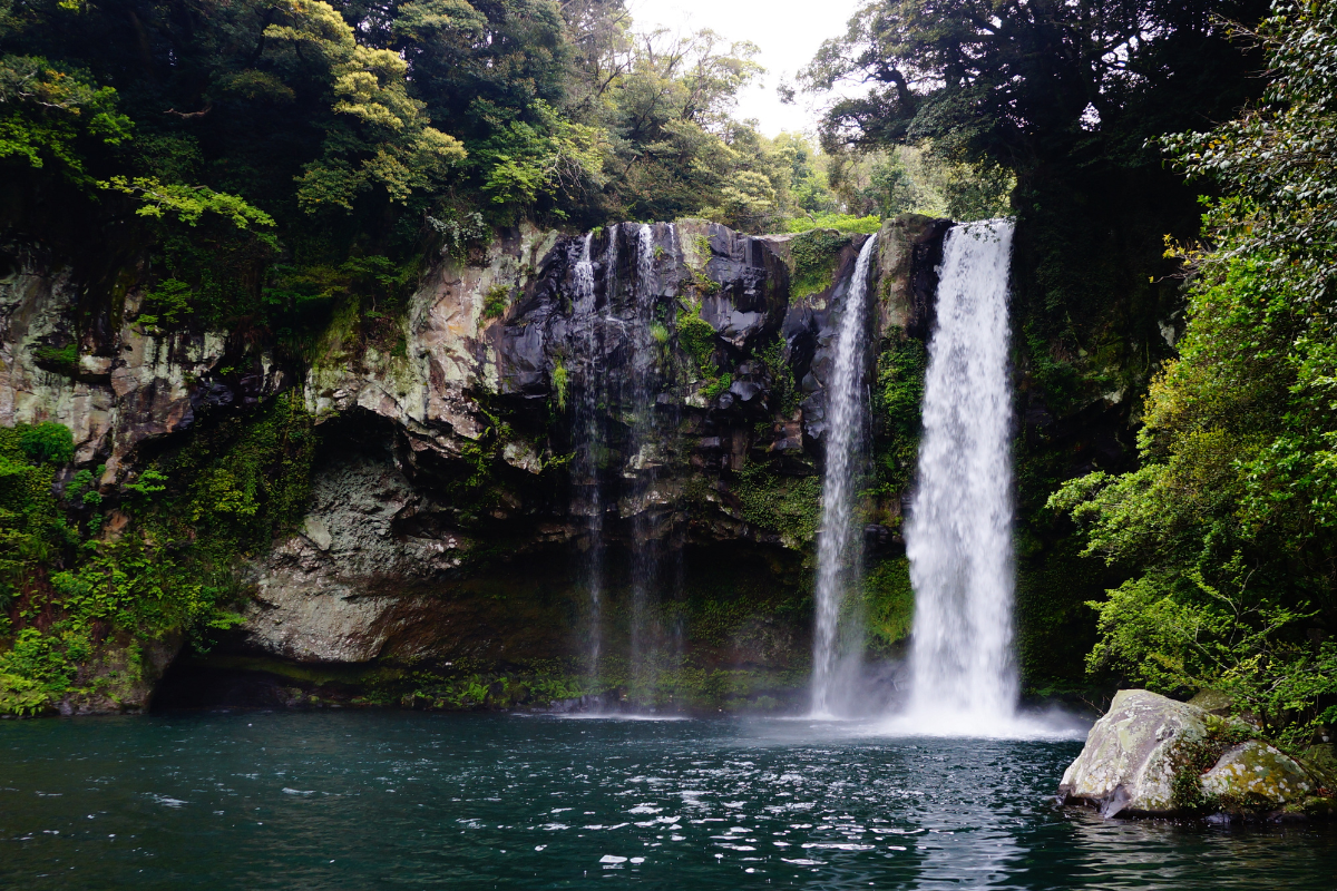
[[(392, 351), (425, 270), (521, 222), (1013, 215), (1027, 688), (1337, 723), (1337, 3), (874, 0), (804, 69), (858, 84), (813, 135), (738, 120), (754, 56), (622, 0), (3, 0), (4, 262), (72, 269), (39, 359), (78, 377), (130, 287), (143, 330), (301, 366), (332, 319)], [(316, 439), (295, 391), (257, 411), (130, 476), (0, 430), (0, 711), (107, 635), (241, 621)]]

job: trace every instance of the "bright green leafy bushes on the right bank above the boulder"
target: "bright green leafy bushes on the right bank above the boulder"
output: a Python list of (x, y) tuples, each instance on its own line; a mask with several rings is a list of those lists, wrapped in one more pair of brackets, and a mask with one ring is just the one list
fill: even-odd
[[(1226, 692), (1300, 747), (1337, 697), (1337, 335), (1326, 321), (1337, 291), (1312, 247), (1330, 211), (1318, 196), (1337, 194), (1337, 175), (1305, 160), (1325, 151), (1317, 118), (1334, 120), (1337, 76), (1313, 64), (1330, 57), (1316, 47), (1334, 45), (1337, 19), (1277, 11), (1263, 28), (1271, 106), (1218, 135), (1169, 140), (1229, 191), (1206, 215), (1215, 247), (1185, 255), (1189, 323), (1147, 397), (1143, 465), (1075, 480), (1051, 504), (1083, 525), (1088, 553), (1131, 576), (1092, 604), (1092, 668)], [(1257, 204), (1271, 190), (1288, 194)]]

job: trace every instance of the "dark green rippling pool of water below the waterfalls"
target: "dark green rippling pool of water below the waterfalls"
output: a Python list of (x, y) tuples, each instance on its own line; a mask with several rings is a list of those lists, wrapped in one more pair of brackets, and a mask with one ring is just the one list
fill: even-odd
[(1055, 808), (1075, 741), (808, 721), (0, 723), (0, 887), (1337, 887), (1329, 826)]

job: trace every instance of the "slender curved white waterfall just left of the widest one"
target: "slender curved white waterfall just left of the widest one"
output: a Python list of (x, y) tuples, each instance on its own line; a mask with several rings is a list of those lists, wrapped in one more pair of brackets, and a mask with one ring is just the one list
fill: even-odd
[(826, 473), (822, 478), (822, 528), (817, 538), (817, 627), (813, 639), (814, 715), (830, 715), (836, 704), (841, 606), (846, 589), (860, 578), (861, 542), (852, 520), (868, 415), (864, 390), (865, 305), (876, 243), (877, 236), (873, 235), (858, 251), (836, 333), (832, 375), (826, 382)]

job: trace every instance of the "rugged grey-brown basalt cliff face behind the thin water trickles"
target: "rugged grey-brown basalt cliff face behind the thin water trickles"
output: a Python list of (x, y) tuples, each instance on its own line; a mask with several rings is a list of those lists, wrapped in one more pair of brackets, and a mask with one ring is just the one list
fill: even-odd
[[(877, 235), (870, 382), (928, 333), (947, 226)], [(155, 691), (547, 705), (638, 683), (660, 704), (782, 701), (806, 671), (825, 383), (865, 238), (521, 227), (432, 266), (377, 338), (334, 313), (301, 361), (263, 337), (144, 325), (135, 270), (90, 307), (59, 262), (17, 251), (0, 423), (74, 431), (57, 486), (98, 472), (98, 536), (126, 522), (122, 486), (211, 425), (283, 398), (317, 439), (305, 518), (237, 568), (245, 622), (170, 669), (183, 636), (162, 636), (138, 675), (63, 709), (134, 711)], [(866, 516), (872, 552), (896, 558), (898, 493)], [(123, 637), (106, 635), (90, 677), (138, 647)]]

